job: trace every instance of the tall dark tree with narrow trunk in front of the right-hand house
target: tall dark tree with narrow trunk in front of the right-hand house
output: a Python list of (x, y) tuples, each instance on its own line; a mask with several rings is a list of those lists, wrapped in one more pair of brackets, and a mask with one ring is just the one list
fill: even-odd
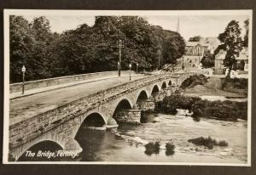
[[(241, 28), (239, 27), (238, 21), (231, 20), (226, 26), (225, 31), (218, 35), (218, 39), (223, 44), (224, 50), (227, 54), (224, 59), (224, 65), (231, 69), (236, 64), (236, 57), (241, 51)], [(230, 76), (230, 71), (228, 76)]]

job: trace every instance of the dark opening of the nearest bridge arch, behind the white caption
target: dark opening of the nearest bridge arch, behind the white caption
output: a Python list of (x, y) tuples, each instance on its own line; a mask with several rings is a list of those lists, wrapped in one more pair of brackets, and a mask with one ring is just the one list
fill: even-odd
[[(63, 145), (58, 143), (56, 140), (51, 140), (51, 139), (45, 139), (45, 140), (39, 140), (38, 142), (28, 146), (27, 148), (23, 148), (24, 150), (20, 152), (20, 155), (16, 157), (17, 161), (29, 161), (27, 159), (34, 159), (32, 161), (42, 161), (43, 158), (45, 158), (43, 161), (47, 160), (47, 157), (40, 157), (37, 156), (38, 151), (50, 151), (50, 152), (55, 152), (56, 150), (63, 150)], [(36, 155), (33, 157), (27, 156), (26, 151), (31, 150), (34, 152)]]

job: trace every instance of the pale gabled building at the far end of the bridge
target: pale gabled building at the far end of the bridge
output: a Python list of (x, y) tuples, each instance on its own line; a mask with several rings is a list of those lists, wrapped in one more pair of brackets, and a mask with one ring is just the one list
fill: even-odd
[(209, 45), (204, 42), (187, 42), (183, 55), (184, 65), (200, 67), (201, 59), (207, 53), (208, 47)]

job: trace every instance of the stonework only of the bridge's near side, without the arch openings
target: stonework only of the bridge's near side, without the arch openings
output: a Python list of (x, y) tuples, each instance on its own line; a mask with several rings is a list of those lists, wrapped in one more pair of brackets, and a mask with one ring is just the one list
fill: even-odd
[[(177, 85), (180, 85), (180, 82), (187, 77), (189, 77), (188, 73), (176, 75), (167, 73), (143, 77), (17, 122), (9, 126), (9, 154), (17, 160), (32, 145), (44, 140), (54, 141), (64, 150), (80, 152), (81, 148), (74, 138), (86, 116), (98, 113), (107, 125), (109, 119), (113, 118), (114, 110), (121, 100), (128, 100), (131, 107), (134, 108), (142, 91), (145, 91), (150, 97), (154, 86), (158, 86), (160, 89), (164, 82), (169, 81), (179, 82)], [(154, 109), (154, 102), (150, 99), (146, 100), (143, 105), (144, 109)], [(140, 121), (141, 110), (134, 109), (126, 112), (129, 121)]]

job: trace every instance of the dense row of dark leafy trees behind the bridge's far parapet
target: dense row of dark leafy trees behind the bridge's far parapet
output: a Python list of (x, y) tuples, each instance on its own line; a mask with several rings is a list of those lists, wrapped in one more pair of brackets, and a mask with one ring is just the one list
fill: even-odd
[(50, 30), (44, 16), (29, 22), (22, 16), (9, 18), (10, 82), (56, 76), (115, 71), (119, 58), (117, 41), (122, 40), (122, 69), (153, 71), (173, 64), (184, 53), (185, 42), (177, 32), (150, 25), (139, 16), (96, 16), (95, 24), (79, 25), (62, 33)]

